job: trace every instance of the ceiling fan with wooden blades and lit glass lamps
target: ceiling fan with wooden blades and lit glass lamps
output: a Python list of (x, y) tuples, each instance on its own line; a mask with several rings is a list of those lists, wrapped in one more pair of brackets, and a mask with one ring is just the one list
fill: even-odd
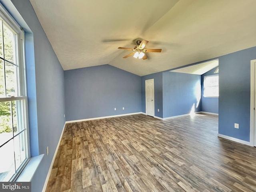
[(118, 47), (118, 49), (135, 51), (135, 52), (132, 52), (132, 53), (124, 56), (123, 58), (127, 58), (129, 56), (134, 55), (133, 56), (134, 58), (139, 58), (139, 59), (142, 58), (143, 60), (145, 60), (145, 59), (147, 59), (147, 56), (145, 54), (146, 52), (161, 52), (162, 51), (162, 49), (144, 49), (146, 44), (148, 44), (148, 42), (149, 41), (147, 41), (147, 40), (142, 40), (142, 41), (138, 40), (138, 41), (136, 41), (137, 45), (133, 49), (125, 48), (125, 47)]

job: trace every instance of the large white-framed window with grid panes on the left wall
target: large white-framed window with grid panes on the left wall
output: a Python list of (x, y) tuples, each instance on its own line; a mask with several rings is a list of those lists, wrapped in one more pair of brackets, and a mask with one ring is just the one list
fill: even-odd
[(28, 151), (24, 32), (0, 5), (0, 181), (13, 181)]

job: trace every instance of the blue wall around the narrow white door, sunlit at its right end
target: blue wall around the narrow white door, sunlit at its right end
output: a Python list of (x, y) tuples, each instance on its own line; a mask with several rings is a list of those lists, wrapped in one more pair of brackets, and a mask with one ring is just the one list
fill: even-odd
[(155, 116), (167, 118), (189, 114), (193, 104), (195, 112), (201, 111), (201, 76), (168, 71), (141, 77), (142, 112), (146, 112), (145, 80), (148, 79), (154, 79)]

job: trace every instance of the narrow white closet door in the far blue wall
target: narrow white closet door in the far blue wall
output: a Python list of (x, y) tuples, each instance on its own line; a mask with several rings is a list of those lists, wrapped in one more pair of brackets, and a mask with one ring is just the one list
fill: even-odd
[(155, 115), (155, 102), (154, 102), (154, 79), (145, 81), (146, 90), (146, 114), (149, 116)]

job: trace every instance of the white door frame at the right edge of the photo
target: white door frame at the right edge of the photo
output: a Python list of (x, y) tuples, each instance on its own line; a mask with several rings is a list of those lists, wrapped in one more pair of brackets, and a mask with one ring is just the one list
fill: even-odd
[(251, 83), (250, 83), (250, 146), (256, 146), (256, 119), (255, 119), (255, 80), (256, 59), (251, 60)]

